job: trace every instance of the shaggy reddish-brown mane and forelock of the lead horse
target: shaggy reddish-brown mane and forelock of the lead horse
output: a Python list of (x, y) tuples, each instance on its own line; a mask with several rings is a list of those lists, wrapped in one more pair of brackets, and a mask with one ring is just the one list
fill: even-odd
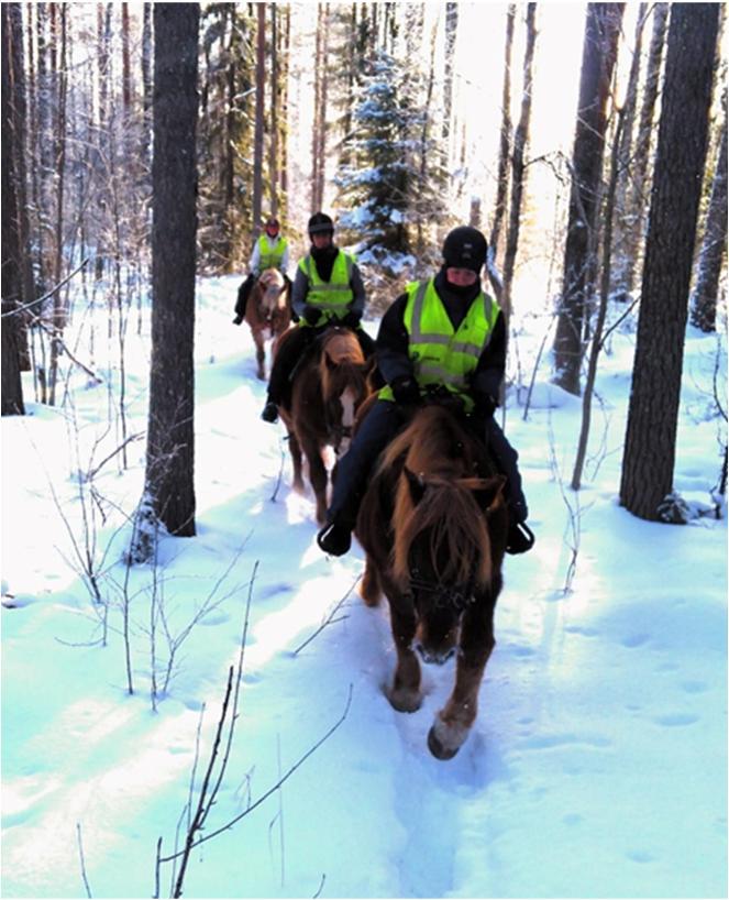
[[(420, 410), (385, 452), (380, 471), (390, 467), (400, 471), (391, 551), (393, 575), (400, 583), (409, 579), (412, 541), (426, 530), (430, 535), (431, 558), (434, 560), (441, 548), (441, 556), (446, 559), (445, 569), (440, 572), (444, 581), (465, 584), (473, 578), (477, 586), (490, 581), (488, 526), (474, 492), (491, 482), (475, 476), (476, 456), (474, 439), (446, 409), (438, 406)], [(413, 476), (422, 487), (418, 503), (410, 484)], [(498, 496), (497, 492), (497, 500)]]

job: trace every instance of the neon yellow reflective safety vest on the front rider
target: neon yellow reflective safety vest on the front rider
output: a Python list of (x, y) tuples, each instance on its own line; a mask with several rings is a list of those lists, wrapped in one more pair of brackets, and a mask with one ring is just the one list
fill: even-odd
[[(494, 333), (500, 311), (498, 304), (479, 292), (454, 330), (432, 278), (411, 282), (406, 289), (404, 325), (409, 336), (408, 354), (421, 393), (431, 385), (446, 387), (462, 396), (470, 413), (473, 409), (468, 395), (471, 376)], [(379, 398), (394, 399), (393, 388), (385, 385)]]

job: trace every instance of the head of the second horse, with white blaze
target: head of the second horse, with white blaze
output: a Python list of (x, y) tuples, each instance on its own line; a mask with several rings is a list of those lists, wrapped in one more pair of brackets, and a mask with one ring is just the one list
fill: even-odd
[(325, 332), (319, 373), (324, 418), (338, 456), (343, 456), (350, 449), (357, 409), (369, 393), (368, 370), (360, 341), (353, 331), (331, 328)]

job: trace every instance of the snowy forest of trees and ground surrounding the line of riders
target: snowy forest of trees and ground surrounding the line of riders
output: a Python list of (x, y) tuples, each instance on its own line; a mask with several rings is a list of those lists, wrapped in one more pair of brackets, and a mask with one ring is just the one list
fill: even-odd
[[(1, 14), (3, 894), (726, 892), (725, 6)], [(499, 601), (506, 693), (450, 773), (420, 713), (384, 717), (386, 614), (353, 600), (361, 551), (312, 544), (232, 323), (266, 220), (294, 277), (318, 211), (373, 338), (451, 229), (488, 242), (537, 546)], [(684, 815), (706, 858), (674, 858)]]

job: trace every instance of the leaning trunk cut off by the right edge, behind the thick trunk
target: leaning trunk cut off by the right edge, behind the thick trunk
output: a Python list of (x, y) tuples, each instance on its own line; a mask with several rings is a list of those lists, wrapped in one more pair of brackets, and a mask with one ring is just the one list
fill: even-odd
[(721, 260), (727, 249), (727, 101), (724, 98), (721, 143), (714, 173), (711, 197), (706, 213), (706, 231), (698, 257), (696, 285), (692, 296), (691, 320), (702, 331), (716, 331), (716, 305)]

